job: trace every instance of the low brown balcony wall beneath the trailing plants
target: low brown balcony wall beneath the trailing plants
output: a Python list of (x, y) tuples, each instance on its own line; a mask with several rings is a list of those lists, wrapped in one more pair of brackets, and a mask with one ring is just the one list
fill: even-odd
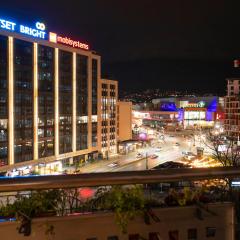
[[(118, 236), (118, 239), (127, 240), (129, 234), (140, 234), (149, 239), (149, 233), (159, 233), (160, 240), (169, 239), (169, 231), (177, 230), (179, 240), (188, 239), (188, 229), (197, 229), (199, 240), (232, 240), (234, 239), (234, 209), (231, 203), (219, 203), (208, 205), (215, 213), (212, 215), (206, 211), (202, 212), (203, 219), (196, 217), (196, 207), (174, 207), (155, 209), (155, 214), (160, 222), (151, 221), (146, 225), (143, 218), (139, 217), (129, 224), (128, 233), (122, 234), (115, 223), (114, 215), (111, 213), (86, 214), (81, 216), (53, 217), (36, 219), (32, 223), (32, 235), (28, 238), (19, 235), (17, 223), (0, 223), (0, 236), (5, 240), (85, 240), (96, 237), (98, 240), (107, 240), (109, 236)], [(47, 226), (53, 225), (55, 236), (47, 238), (45, 231)], [(206, 228), (216, 228), (216, 236), (207, 238)]]

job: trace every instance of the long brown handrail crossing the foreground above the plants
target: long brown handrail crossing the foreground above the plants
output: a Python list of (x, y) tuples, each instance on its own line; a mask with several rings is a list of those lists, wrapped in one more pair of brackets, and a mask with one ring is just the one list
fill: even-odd
[(240, 167), (161, 169), (0, 178), (0, 192), (240, 178)]

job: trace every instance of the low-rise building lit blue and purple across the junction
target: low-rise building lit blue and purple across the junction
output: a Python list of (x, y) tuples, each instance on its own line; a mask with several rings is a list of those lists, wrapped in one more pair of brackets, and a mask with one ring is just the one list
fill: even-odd
[(216, 96), (153, 99), (151, 111), (134, 107), (134, 121), (142, 118), (143, 124), (153, 127), (213, 127), (216, 122), (223, 124), (223, 100)]

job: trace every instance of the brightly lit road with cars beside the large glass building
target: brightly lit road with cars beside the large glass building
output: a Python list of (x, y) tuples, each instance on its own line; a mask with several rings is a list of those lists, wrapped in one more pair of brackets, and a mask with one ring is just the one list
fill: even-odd
[[(175, 146), (179, 143), (180, 146)], [(98, 163), (89, 164), (81, 168), (81, 172), (116, 172), (116, 171), (133, 171), (133, 170), (145, 170), (146, 165), (151, 169), (159, 164), (168, 161), (177, 161), (182, 157), (183, 151), (194, 151), (195, 148), (189, 143), (181, 134), (173, 136), (165, 135), (165, 142), (160, 142), (157, 146), (161, 146), (161, 150), (157, 151), (157, 147), (146, 147), (140, 149), (139, 152), (143, 155), (142, 159), (137, 159), (136, 152), (128, 155), (120, 155), (108, 161), (101, 161)], [(148, 157), (146, 163), (146, 156), (153, 154), (158, 155), (157, 158), (151, 159)], [(111, 164), (115, 163), (115, 164)]]

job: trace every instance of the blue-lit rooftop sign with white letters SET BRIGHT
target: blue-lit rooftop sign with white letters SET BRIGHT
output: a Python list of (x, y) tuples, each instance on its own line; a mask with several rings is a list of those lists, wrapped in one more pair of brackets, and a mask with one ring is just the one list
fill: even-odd
[(5, 29), (12, 32), (19, 32), (25, 35), (29, 35), (35, 38), (45, 39), (46, 32), (45, 32), (45, 25), (43, 23), (37, 22), (34, 28), (29, 26), (25, 26), (22, 24), (17, 24), (12, 21), (7, 21), (5, 19), (0, 18), (0, 29)]

